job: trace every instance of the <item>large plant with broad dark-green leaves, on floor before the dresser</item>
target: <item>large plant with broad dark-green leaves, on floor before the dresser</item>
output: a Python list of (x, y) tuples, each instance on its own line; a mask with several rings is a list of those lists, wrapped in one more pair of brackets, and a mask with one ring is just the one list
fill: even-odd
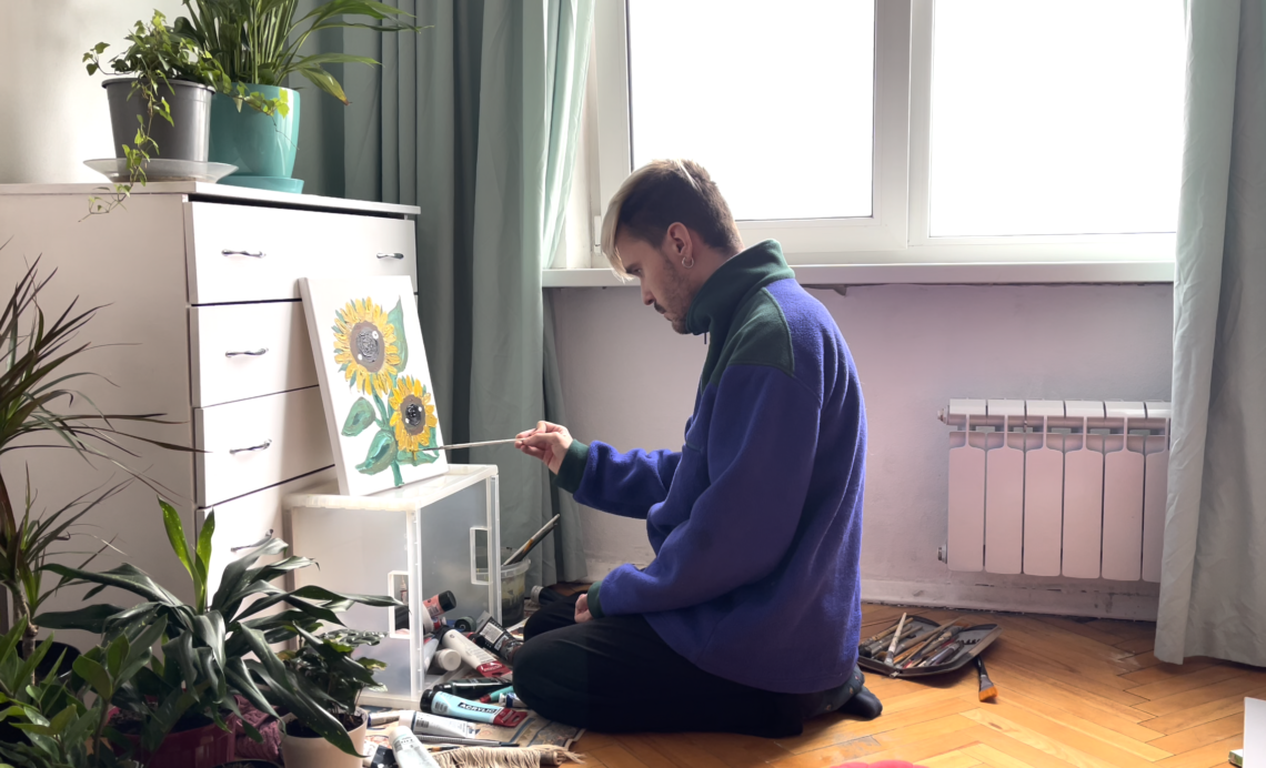
[[(379, 607), (404, 607), (404, 604), (387, 596), (341, 595), (311, 585), (294, 591), (275, 586), (272, 582), (287, 573), (315, 564), (301, 557), (260, 564), (263, 557), (286, 552), (287, 545), (280, 539), (268, 539), (229, 563), (211, 595), (209, 568), (215, 514), (206, 516), (197, 540), (190, 545), (180, 514), (167, 502), (160, 501), (160, 506), (172, 552), (192, 579), (194, 605), (184, 604), (128, 563), (99, 573), (53, 563), (46, 568), (67, 583), (92, 585), (90, 597), (105, 587), (116, 587), (139, 596), (142, 602), (127, 609), (99, 604), (43, 614), (38, 616), (41, 625), (95, 631), (108, 647), (137, 628), (156, 621), (166, 624), (162, 660), (151, 660), (113, 697), (115, 706), (134, 712), (144, 722), (143, 753), (156, 749), (177, 722), (187, 722), (190, 717), (228, 729), (224, 714), (239, 715), (234, 696), (242, 696), (270, 715), (276, 715), (275, 706), (284, 706), (313, 731), (356, 754), (347, 731), (324, 706), (327, 702), (286, 667), (271, 645), (311, 633), (322, 622), (342, 626), (338, 614), (354, 604)], [(270, 614), (273, 606), (284, 610)], [(260, 738), (249, 725), (243, 722), (243, 726), (252, 738)]]

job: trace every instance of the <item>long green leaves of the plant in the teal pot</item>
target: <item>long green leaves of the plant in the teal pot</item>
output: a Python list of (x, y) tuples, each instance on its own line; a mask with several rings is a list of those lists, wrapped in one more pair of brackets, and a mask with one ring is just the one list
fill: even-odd
[(298, 73), (343, 104), (349, 104), (347, 94), (325, 65), (379, 62), (347, 53), (304, 53), (314, 33), (347, 27), (375, 32), (425, 29), (403, 23), (411, 14), (372, 0), (328, 0), (298, 19), (299, 0), (184, 0), (184, 4), (189, 18), (176, 19), (176, 33), (210, 53), (230, 81), (285, 86), (290, 75)]

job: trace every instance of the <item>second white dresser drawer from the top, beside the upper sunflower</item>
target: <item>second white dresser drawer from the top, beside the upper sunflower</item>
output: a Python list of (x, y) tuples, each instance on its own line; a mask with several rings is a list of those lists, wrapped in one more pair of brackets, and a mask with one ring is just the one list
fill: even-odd
[(314, 387), (304, 305), (220, 304), (189, 309), (194, 407)]

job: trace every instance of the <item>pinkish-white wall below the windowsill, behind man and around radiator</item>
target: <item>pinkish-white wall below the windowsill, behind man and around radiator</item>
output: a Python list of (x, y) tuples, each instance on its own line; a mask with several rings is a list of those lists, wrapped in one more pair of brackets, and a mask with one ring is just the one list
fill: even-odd
[[(1167, 400), (1170, 286), (868, 286), (814, 295), (852, 349), (870, 425), (863, 595), (910, 604), (1155, 617), (1156, 585), (951, 573), (951, 397)], [(680, 448), (705, 347), (636, 288), (555, 290), (568, 426), (618, 448)], [(644, 524), (585, 510), (590, 576), (653, 554)]]

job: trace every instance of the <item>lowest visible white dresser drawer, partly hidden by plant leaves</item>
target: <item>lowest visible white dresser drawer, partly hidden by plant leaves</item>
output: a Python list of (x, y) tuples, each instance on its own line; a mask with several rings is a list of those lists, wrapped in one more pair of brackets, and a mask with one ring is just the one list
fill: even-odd
[[(224, 567), (262, 544), (268, 536), (290, 542), (282, 529), (281, 500), (287, 493), (300, 493), (337, 481), (334, 468), (322, 469), (290, 482), (256, 491), (241, 499), (197, 510), (197, 529), (201, 530), (206, 514), (215, 510), (215, 530), (211, 533), (210, 593), (220, 586)], [(277, 555), (270, 555), (276, 561)], [(279, 585), (280, 586), (280, 585)]]

